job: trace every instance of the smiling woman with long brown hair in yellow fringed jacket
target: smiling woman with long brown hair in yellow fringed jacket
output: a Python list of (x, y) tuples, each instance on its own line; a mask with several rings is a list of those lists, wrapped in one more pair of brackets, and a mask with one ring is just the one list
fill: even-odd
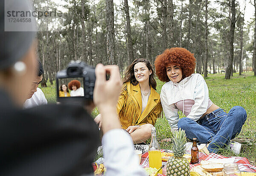
[[(116, 110), (122, 128), (130, 133), (134, 143), (151, 136), (151, 127), (162, 112), (156, 87), (153, 67), (147, 59), (135, 59), (127, 67)], [(94, 120), (101, 127), (101, 115)]]

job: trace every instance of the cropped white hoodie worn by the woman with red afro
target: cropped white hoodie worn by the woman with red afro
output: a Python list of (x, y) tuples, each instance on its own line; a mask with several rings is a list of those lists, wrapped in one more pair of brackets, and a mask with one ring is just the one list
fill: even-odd
[(165, 83), (161, 89), (160, 98), (166, 119), (172, 130), (177, 130), (179, 115), (176, 103), (183, 101), (184, 110), (184, 100), (194, 100), (195, 104), (186, 117), (197, 121), (207, 111), (209, 91), (203, 76), (194, 73), (179, 83), (172, 81)]

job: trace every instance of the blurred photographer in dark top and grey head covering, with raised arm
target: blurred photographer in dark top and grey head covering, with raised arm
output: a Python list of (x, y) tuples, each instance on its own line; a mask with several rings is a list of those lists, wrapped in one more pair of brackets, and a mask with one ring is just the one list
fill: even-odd
[[(10, 2), (13, 1), (7, 3)], [(95, 136), (99, 136), (99, 131), (84, 107), (51, 104), (22, 109), (36, 75), (36, 33), (5, 32), (4, 3), (0, 0), (1, 175), (91, 175), (91, 163), (99, 145)], [(28, 0), (15, 1), (11, 6), (33, 11)], [(28, 25), (32, 28), (35, 23)], [(102, 112), (104, 121), (102, 130), (105, 133), (103, 145), (107, 175), (144, 176), (133, 153), (131, 137), (120, 129), (113, 108), (121, 89), (119, 69), (99, 64), (95, 72), (93, 102)], [(106, 72), (111, 74), (108, 81)], [(92, 110), (93, 106), (90, 107), (88, 109)], [(119, 144), (119, 141), (124, 144)], [(112, 144), (116, 144), (115, 147)], [(123, 153), (125, 157), (122, 157)], [(116, 156), (120, 156), (118, 160)]]

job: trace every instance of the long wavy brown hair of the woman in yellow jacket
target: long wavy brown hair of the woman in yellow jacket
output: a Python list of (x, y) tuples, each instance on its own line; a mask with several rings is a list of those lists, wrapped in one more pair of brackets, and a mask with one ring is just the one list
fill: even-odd
[(134, 75), (134, 65), (136, 63), (139, 63), (139, 62), (145, 63), (145, 65), (148, 67), (148, 70), (152, 71), (151, 75), (149, 75), (149, 81), (148, 82), (149, 82), (149, 86), (156, 90), (157, 82), (155, 81), (153, 66), (151, 65), (151, 63), (147, 59), (143, 59), (143, 58), (135, 59), (131, 63), (131, 65), (129, 65), (126, 68), (125, 77), (123, 78), (123, 83), (131, 82), (131, 84), (133, 84), (134, 86), (136, 86), (139, 83), (137, 81), (137, 79), (135, 78), (135, 75)]

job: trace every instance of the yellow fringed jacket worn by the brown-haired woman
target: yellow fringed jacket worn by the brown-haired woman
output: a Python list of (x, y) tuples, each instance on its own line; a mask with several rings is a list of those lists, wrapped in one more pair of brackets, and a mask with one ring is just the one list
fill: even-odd
[(160, 95), (151, 87), (148, 104), (141, 113), (142, 100), (140, 85), (132, 85), (130, 82), (123, 84), (121, 94), (116, 106), (116, 111), (123, 129), (132, 125), (152, 124), (154, 126), (162, 112)]

